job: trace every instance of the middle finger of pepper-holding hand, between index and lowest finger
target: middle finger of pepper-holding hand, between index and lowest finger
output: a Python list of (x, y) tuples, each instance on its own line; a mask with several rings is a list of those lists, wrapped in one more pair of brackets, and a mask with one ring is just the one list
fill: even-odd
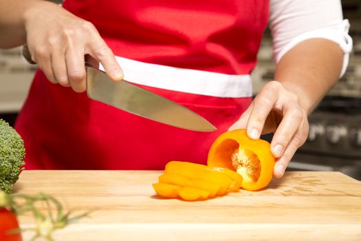
[(271, 151), (275, 157), (283, 154), (285, 147), (294, 138), (298, 127), (303, 126), (303, 112), (298, 103), (283, 103), (284, 114), (281, 123), (278, 125), (272, 138)]

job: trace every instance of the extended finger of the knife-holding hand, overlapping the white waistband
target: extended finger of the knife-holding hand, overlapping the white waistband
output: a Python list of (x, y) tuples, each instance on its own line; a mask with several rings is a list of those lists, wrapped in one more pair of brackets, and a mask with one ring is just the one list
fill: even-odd
[(91, 43), (89, 54), (103, 65), (105, 72), (111, 79), (114, 81), (122, 80), (124, 77), (122, 68), (116, 61), (116, 57), (111, 49), (100, 36)]

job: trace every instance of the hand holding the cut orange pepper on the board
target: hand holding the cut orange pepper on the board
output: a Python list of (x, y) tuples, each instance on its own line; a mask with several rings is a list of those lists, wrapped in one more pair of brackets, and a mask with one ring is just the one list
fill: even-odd
[(286, 90), (280, 82), (271, 81), (229, 130), (247, 129), (252, 139), (274, 132), (271, 142), (271, 151), (276, 157), (274, 176), (281, 178), (298, 147), (305, 143), (308, 128), (307, 112), (296, 94)]

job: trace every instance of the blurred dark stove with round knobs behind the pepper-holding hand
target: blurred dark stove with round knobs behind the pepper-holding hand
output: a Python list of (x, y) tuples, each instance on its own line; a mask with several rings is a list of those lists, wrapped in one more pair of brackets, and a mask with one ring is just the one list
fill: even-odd
[(361, 180), (361, 97), (327, 96), (309, 116), (309, 135), (289, 169), (342, 171)]

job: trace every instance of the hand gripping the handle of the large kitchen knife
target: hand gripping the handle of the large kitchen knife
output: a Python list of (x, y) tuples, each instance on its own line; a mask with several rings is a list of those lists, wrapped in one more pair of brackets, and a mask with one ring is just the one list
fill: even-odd
[(93, 61), (102, 63), (113, 80), (123, 78), (113, 52), (89, 21), (46, 1), (39, 1), (29, 8), (24, 19), (32, 61), (39, 65), (50, 82), (84, 92), (86, 54)]

